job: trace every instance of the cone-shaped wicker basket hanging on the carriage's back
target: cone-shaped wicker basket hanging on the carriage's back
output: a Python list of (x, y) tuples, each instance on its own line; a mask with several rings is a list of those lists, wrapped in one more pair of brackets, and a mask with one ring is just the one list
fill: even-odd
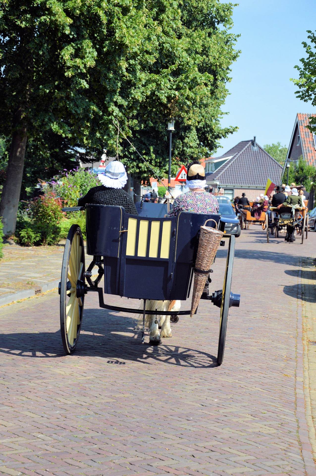
[[(206, 227), (205, 225), (208, 221), (214, 221), (215, 228)], [(217, 249), (220, 246), (220, 240), (222, 237), (223, 231), (217, 229), (217, 223), (215, 220), (206, 220), (204, 225), (201, 226), (199, 248), (194, 269), (191, 317), (199, 305), (210, 268), (213, 264)]]

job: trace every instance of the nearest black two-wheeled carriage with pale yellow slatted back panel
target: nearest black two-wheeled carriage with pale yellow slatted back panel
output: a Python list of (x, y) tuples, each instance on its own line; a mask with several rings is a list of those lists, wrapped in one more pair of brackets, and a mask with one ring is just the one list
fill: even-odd
[[(102, 308), (143, 314), (143, 343), (145, 314), (190, 315), (190, 310), (145, 310), (146, 300), (185, 301), (190, 294), (201, 225), (207, 219), (213, 219), (219, 229), (224, 230), (225, 223), (238, 223), (237, 218), (187, 212), (164, 218), (166, 205), (136, 205), (139, 216), (125, 213), (122, 207), (86, 205), (86, 252), (93, 257), (87, 269), (80, 227), (72, 225), (69, 230), (59, 284), (61, 337), (67, 354), (71, 354), (77, 346), (84, 299), (88, 292), (98, 293)], [(67, 212), (82, 209), (63, 208)], [(230, 292), (235, 237), (228, 238), (223, 288), (211, 293), (211, 279), (208, 278), (202, 295), (202, 298), (210, 299), (220, 307), (219, 365), (223, 360), (229, 308), (239, 306), (240, 298)], [(222, 240), (221, 244), (224, 245), (225, 241)], [(97, 267), (98, 274), (92, 280), (94, 267)], [(148, 279), (149, 275), (154, 275), (155, 280)], [(104, 289), (98, 286), (102, 277)], [(142, 309), (112, 306), (104, 302), (104, 293), (142, 299), (144, 306)]]

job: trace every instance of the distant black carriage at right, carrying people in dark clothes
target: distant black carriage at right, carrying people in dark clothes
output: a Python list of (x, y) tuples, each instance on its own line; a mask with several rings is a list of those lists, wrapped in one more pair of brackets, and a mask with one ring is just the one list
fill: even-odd
[(301, 243), (303, 244), (304, 235), (307, 239), (308, 232), (308, 209), (307, 208), (292, 208), (285, 206), (281, 208), (270, 207), (269, 212), (266, 213), (267, 225), (267, 241), (269, 237), (274, 235), (278, 238), (279, 231), (282, 228), (294, 227), (297, 234), (301, 236)]

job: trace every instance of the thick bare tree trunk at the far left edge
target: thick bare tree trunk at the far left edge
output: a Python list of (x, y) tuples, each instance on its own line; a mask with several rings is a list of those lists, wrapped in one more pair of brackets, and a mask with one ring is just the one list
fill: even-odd
[(7, 178), (3, 186), (0, 202), (3, 233), (10, 236), (15, 232), (20, 191), (22, 185), (27, 127), (22, 122), (22, 109), (14, 114), (14, 129), (9, 153)]

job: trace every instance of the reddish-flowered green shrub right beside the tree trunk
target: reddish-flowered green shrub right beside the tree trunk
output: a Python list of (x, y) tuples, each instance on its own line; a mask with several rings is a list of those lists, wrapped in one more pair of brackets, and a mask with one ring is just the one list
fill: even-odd
[(47, 188), (41, 195), (27, 202), (27, 208), (19, 212), (16, 236), (21, 245), (54, 245), (59, 240), (60, 222), (65, 215), (61, 199)]

